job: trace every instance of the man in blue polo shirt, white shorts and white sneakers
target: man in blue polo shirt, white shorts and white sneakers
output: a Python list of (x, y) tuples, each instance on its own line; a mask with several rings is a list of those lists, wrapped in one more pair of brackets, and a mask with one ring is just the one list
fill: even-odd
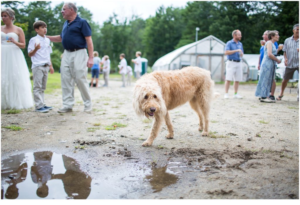
[(241, 57), (244, 54), (243, 45), (240, 42), (242, 34), (239, 30), (232, 31), (233, 39), (228, 41), (225, 46), (224, 54), (227, 55), (226, 62), (226, 75), (225, 75), (225, 94), (224, 98), (228, 99), (228, 89), (230, 85), (230, 81), (233, 82), (234, 95), (233, 98), (241, 99), (238, 92), (238, 83), (243, 79), (243, 69), (241, 63)]

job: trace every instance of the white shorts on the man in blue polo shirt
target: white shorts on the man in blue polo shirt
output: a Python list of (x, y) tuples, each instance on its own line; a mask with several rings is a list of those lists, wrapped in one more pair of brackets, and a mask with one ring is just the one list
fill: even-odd
[(226, 81), (242, 81), (243, 80), (243, 68), (242, 62), (234, 62), (227, 60), (226, 62)]

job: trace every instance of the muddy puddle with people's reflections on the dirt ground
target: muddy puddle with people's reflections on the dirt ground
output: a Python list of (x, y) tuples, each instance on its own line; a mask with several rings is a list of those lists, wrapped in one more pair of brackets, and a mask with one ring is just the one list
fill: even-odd
[[(162, 168), (147, 166), (128, 169), (122, 173), (123, 177), (106, 174), (94, 179), (79, 167), (73, 158), (50, 151), (10, 156), (1, 161), (1, 199), (128, 198), (133, 185), (148, 187), (151, 193), (175, 184), (182, 172), (171, 168), (184, 166), (180, 163), (168, 163)], [(142, 194), (136, 192), (136, 196)]]

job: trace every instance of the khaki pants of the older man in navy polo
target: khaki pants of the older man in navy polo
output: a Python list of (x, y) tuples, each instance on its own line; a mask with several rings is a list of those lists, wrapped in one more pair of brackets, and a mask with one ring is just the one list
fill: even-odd
[(87, 61), (86, 49), (73, 52), (64, 50), (60, 66), (63, 107), (72, 108), (75, 104), (74, 86), (76, 83), (81, 93), (84, 109), (91, 109), (91, 96), (86, 78), (88, 73)]

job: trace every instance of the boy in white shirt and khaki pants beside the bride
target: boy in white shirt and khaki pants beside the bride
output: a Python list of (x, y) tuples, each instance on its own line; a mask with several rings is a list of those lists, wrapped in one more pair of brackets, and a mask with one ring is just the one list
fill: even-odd
[(33, 98), (36, 112), (48, 112), (52, 107), (44, 104), (44, 91), (46, 89), (48, 72), (54, 73), (50, 53), (52, 53), (51, 41), (46, 38), (47, 25), (43, 21), (36, 21), (33, 28), (37, 35), (29, 40), (28, 56), (32, 61), (33, 74)]

